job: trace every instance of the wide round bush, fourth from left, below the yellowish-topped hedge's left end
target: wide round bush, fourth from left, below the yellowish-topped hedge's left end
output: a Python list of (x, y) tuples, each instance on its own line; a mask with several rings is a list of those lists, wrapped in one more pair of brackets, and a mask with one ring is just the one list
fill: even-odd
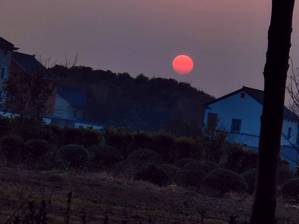
[(104, 164), (111, 166), (121, 159), (120, 150), (113, 148), (110, 145), (93, 146), (87, 149), (91, 156), (91, 162), (94, 164)]

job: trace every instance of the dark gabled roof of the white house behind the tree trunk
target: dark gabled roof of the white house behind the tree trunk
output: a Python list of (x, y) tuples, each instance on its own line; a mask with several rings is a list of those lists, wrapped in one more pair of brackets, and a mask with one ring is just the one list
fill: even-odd
[[(218, 101), (220, 101), (222, 99), (228, 98), (228, 97), (233, 96), (233, 95), (235, 95), (237, 93), (240, 93), (240, 92), (247, 93), (249, 96), (251, 96), (257, 102), (259, 102), (261, 105), (263, 105), (263, 102), (264, 102), (264, 91), (263, 90), (254, 89), (254, 88), (243, 86), (239, 90), (236, 90), (236, 91), (234, 91), (232, 93), (229, 93), (229, 94), (227, 94), (225, 96), (219, 97), (218, 99), (215, 99), (213, 101), (210, 101), (210, 102), (204, 104), (204, 107), (206, 109), (211, 109), (209, 107), (210, 104), (216, 103), (216, 102), (218, 102)], [(295, 115), (295, 113), (293, 113), (292, 111), (290, 111), (288, 108), (284, 107), (284, 111), (283, 112), (284, 112), (284, 117), (292, 118), (292, 119), (297, 119), (297, 116)]]

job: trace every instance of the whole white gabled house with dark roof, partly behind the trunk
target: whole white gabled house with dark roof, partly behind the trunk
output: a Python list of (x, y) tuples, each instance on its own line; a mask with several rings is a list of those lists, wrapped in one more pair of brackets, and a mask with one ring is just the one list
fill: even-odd
[[(245, 148), (257, 150), (263, 96), (263, 90), (243, 86), (239, 90), (206, 103), (204, 105), (205, 128), (222, 128), (230, 133), (228, 136), (230, 142), (237, 142)], [(284, 159), (296, 159), (298, 157), (292, 144), (298, 145), (297, 117), (285, 107), (283, 134), (281, 136), (281, 152)]]

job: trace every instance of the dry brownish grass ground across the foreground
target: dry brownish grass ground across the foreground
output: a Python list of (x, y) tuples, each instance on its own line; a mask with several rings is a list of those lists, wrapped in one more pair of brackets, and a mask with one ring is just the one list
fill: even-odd
[[(65, 223), (66, 194), (72, 191), (70, 223), (80, 223), (83, 215), (87, 223), (202, 223), (198, 212), (205, 211), (205, 224), (228, 223), (230, 215), (239, 220), (249, 219), (252, 197), (226, 193), (222, 197), (207, 196), (204, 191), (176, 186), (158, 187), (148, 182), (118, 178), (107, 173), (57, 174), (34, 172), (17, 168), (0, 168), (0, 220), (7, 220), (29, 196), (34, 205), (47, 203), (48, 223)], [(279, 223), (299, 223), (298, 210), (278, 200)], [(17, 215), (28, 212), (25, 204)]]

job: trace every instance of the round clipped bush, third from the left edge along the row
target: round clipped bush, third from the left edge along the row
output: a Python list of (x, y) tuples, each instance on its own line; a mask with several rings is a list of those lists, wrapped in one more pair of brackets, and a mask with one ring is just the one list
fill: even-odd
[(89, 162), (87, 150), (80, 145), (65, 145), (60, 148), (62, 159), (74, 168), (83, 168)]

